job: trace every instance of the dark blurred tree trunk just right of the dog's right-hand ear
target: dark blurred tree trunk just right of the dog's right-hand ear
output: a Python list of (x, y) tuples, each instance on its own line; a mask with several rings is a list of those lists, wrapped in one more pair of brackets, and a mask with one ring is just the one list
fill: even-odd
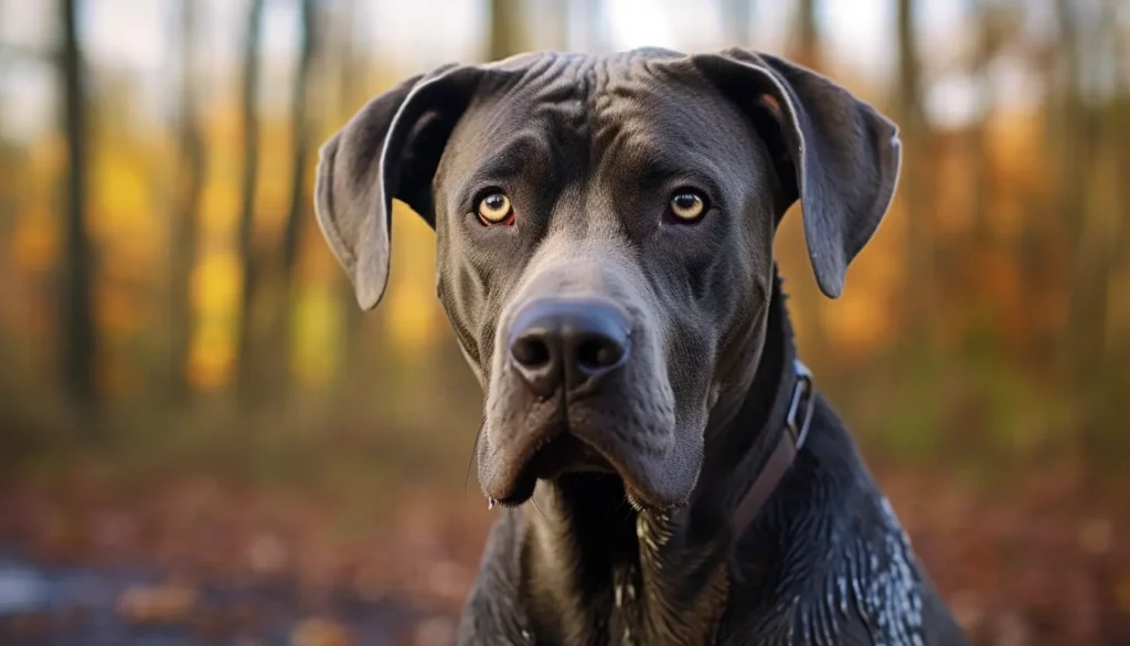
[(918, 54), (918, 34), (914, 29), (914, 0), (897, 0), (898, 32), (898, 113), (903, 140), (902, 201), (906, 217), (905, 302), (909, 308), (907, 342), (921, 348), (929, 341), (932, 249), (928, 238), (930, 199), (927, 186), (928, 131), (922, 113), (921, 63)]

